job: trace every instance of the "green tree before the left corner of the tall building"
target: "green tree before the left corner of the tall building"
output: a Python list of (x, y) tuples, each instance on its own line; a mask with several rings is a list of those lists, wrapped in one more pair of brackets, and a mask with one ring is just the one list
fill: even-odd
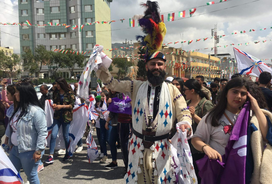
[(42, 65), (46, 65), (50, 61), (50, 51), (47, 51), (44, 45), (38, 45), (34, 49), (34, 55), (31, 49), (27, 49), (22, 57), (27, 60), (23, 64), (24, 69), (29, 70), (31, 74), (35, 73), (35, 76), (39, 77)]

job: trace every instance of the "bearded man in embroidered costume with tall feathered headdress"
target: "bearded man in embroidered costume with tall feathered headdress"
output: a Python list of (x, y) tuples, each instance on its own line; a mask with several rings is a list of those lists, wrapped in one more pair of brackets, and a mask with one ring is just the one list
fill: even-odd
[[(103, 66), (96, 73), (109, 89), (131, 93), (133, 135), (129, 142), (126, 183), (173, 183), (176, 177), (169, 150), (169, 132), (176, 119), (181, 122), (183, 131), (191, 128), (192, 118), (179, 90), (164, 82), (166, 59), (159, 50), (166, 28), (161, 22), (159, 5), (147, 1), (141, 6), (145, 7), (145, 12), (139, 18), (139, 25), (146, 35), (137, 36), (137, 39), (146, 46), (148, 80), (119, 81)], [(188, 131), (189, 138), (190, 133)]]

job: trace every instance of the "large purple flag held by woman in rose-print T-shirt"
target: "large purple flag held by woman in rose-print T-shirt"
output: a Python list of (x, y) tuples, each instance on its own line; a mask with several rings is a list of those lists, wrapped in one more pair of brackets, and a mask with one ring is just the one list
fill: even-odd
[(222, 155), (223, 163), (210, 160), (208, 157), (196, 161), (201, 183), (245, 183), (249, 115), (250, 102), (247, 102), (230, 133), (225, 155)]

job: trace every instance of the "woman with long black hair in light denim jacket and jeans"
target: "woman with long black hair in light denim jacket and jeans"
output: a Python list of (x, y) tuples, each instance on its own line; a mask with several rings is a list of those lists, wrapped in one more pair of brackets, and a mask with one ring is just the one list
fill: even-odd
[(18, 172), (23, 168), (29, 183), (39, 184), (37, 169), (48, 134), (45, 113), (33, 85), (18, 83), (15, 96), (19, 103), (9, 119), (9, 159)]

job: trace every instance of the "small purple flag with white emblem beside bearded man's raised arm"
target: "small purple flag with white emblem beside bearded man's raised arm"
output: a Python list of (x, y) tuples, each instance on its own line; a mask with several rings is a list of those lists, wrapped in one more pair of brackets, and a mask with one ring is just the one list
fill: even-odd
[(131, 109), (131, 99), (127, 97), (127, 99), (119, 99), (112, 98), (112, 102), (109, 104), (108, 111), (114, 113), (123, 113), (123, 114), (132, 114)]

